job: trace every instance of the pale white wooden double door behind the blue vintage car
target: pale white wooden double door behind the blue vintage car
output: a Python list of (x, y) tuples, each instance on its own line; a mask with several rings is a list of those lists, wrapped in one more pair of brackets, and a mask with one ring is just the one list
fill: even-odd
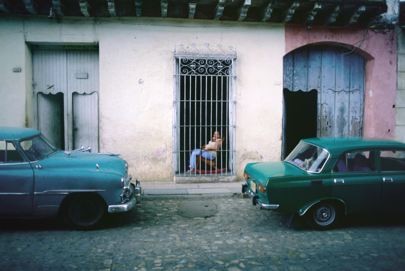
[(65, 150), (98, 152), (98, 51), (34, 49), (32, 56), (37, 128)]

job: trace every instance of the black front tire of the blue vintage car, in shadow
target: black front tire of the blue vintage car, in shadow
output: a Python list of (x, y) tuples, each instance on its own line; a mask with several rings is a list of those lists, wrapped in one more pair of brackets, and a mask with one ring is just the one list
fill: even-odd
[(94, 228), (105, 213), (103, 199), (94, 194), (74, 195), (65, 205), (63, 218), (69, 227), (76, 230)]

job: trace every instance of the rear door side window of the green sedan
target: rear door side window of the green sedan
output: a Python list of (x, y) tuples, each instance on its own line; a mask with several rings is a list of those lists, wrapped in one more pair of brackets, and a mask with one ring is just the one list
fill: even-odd
[(333, 173), (375, 171), (375, 151), (343, 152), (339, 157)]

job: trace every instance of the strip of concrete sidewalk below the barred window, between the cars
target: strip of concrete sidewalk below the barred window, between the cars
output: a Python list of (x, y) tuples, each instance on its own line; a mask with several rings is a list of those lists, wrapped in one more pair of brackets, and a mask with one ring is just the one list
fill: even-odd
[(242, 182), (176, 184), (174, 182), (142, 182), (142, 197), (227, 197), (242, 192)]

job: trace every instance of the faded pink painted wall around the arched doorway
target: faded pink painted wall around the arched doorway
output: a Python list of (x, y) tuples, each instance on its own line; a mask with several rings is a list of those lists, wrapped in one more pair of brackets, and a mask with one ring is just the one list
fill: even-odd
[(308, 44), (355, 49), (367, 60), (364, 91), (364, 136), (394, 139), (396, 97), (396, 32), (286, 24), (286, 54)]

